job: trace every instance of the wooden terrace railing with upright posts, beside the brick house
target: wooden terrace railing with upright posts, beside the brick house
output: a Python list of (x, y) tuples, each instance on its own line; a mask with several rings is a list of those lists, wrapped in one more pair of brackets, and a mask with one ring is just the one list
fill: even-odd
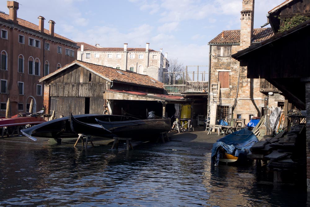
[(164, 73), (164, 89), (168, 94), (204, 93), (208, 91), (208, 81), (206, 81), (208, 73), (199, 72), (199, 66), (195, 66), (197, 71), (188, 72), (187, 67), (192, 66), (186, 66), (185, 71)]

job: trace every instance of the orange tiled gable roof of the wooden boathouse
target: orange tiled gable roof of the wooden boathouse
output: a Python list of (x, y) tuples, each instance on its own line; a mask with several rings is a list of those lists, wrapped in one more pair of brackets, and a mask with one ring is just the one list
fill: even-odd
[[(41, 81), (44, 81), (45, 79), (49, 79), (53, 77), (54, 75), (60, 73), (63, 70), (66, 70), (66, 67), (70, 67), (74, 64), (79, 64), (89, 70), (92, 70), (94, 73), (98, 74), (99, 76), (105, 77), (107, 79), (110, 79), (111, 81), (116, 82), (123, 82), (123, 83), (130, 83), (130, 84), (137, 84), (142, 86), (148, 86), (148, 87), (154, 87), (154, 88), (163, 88), (164, 84), (162, 82), (159, 82), (156, 79), (153, 79), (152, 77), (148, 75), (142, 75), (137, 74), (133, 72), (127, 72), (124, 70), (114, 69), (110, 67), (106, 67), (103, 65), (96, 65), (92, 63), (87, 63), (83, 61), (73, 61), (62, 68), (56, 70), (55, 72), (43, 77), (40, 79)], [(117, 72), (118, 71), (118, 72)]]

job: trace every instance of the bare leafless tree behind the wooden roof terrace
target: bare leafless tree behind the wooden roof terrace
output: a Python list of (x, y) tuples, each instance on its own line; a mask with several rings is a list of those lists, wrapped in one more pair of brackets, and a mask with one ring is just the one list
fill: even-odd
[(169, 60), (169, 67), (168, 67), (168, 72), (169, 72), (169, 84), (173, 84), (174, 80), (176, 82), (179, 82), (177, 80), (183, 80), (184, 79), (184, 72), (185, 72), (185, 67), (183, 63), (180, 63), (178, 61), (178, 58), (172, 58)]

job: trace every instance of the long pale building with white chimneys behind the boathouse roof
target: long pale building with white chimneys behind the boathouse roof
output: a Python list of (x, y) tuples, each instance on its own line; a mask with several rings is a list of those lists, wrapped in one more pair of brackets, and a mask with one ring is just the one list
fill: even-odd
[[(149, 48), (130, 48), (127, 43), (122, 47), (100, 47), (99, 44), (92, 46), (87, 43), (78, 43), (78, 60), (113, 67), (121, 70), (130, 70), (138, 74), (148, 75), (163, 82), (164, 56), (160, 52)], [(166, 61), (167, 62), (167, 61)], [(166, 63), (165, 63), (166, 64)]]

